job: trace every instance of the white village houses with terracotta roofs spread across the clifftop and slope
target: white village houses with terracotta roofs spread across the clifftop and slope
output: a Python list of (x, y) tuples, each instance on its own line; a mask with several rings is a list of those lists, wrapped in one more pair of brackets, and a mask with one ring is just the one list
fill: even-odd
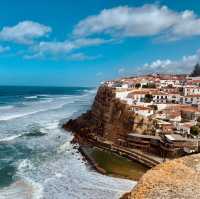
[(152, 74), (104, 82), (129, 111), (153, 120), (151, 134), (129, 133), (119, 145), (165, 157), (199, 152), (200, 77)]

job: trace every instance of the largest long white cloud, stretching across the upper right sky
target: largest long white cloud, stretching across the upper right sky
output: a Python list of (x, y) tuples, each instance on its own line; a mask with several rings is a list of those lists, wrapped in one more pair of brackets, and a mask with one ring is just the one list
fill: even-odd
[(74, 28), (77, 37), (93, 34), (120, 36), (154, 36), (165, 34), (170, 39), (200, 35), (200, 18), (193, 11), (176, 12), (166, 6), (121, 6), (89, 16)]

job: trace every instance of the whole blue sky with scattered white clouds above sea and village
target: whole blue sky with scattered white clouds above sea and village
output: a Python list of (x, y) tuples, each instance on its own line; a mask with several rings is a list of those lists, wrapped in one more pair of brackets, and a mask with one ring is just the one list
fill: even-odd
[(0, 1), (0, 85), (185, 73), (199, 49), (199, 0)]

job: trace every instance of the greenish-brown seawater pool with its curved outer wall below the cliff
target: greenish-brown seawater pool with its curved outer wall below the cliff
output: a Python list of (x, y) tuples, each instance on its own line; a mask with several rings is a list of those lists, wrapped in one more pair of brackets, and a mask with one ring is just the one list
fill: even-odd
[[(129, 179), (133, 181), (138, 181), (142, 175), (149, 169), (145, 165), (134, 162), (130, 160), (127, 157), (124, 157), (122, 154), (113, 152), (112, 150), (101, 148), (98, 145), (93, 145), (88, 140), (80, 137), (77, 135), (77, 133), (74, 133), (74, 139), (72, 140), (73, 143), (77, 143), (79, 145), (79, 152), (83, 155), (84, 159), (90, 164), (90, 166), (96, 170), (97, 172), (103, 174), (103, 175), (108, 175), (116, 178), (123, 178), (123, 179)], [(109, 169), (105, 167), (105, 164), (102, 165), (99, 163), (98, 157), (95, 157), (91, 151), (97, 151), (98, 153), (100, 152), (101, 160), (102, 156), (106, 156), (106, 158), (109, 158)], [(108, 156), (108, 157), (107, 157)], [(117, 161), (116, 161), (117, 158)], [(119, 166), (121, 167), (117, 172), (116, 168), (112, 169), (112, 160), (114, 159), (115, 164), (120, 164)], [(102, 160), (104, 161), (104, 160)], [(128, 162), (129, 161), (129, 162)], [(128, 163), (127, 163), (128, 162)], [(135, 165), (134, 165), (135, 163)], [(129, 169), (129, 174), (127, 172), (124, 172), (124, 165), (127, 165)], [(130, 167), (132, 167), (132, 170), (136, 170), (136, 173), (131, 173)], [(125, 168), (126, 170), (126, 168)]]

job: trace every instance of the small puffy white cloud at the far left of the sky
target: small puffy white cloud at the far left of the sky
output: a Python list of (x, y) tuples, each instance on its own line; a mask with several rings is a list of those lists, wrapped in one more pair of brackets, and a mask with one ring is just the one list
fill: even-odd
[(46, 36), (52, 30), (50, 27), (33, 21), (22, 21), (15, 26), (4, 27), (0, 31), (0, 39), (16, 43), (31, 44), (34, 39)]

